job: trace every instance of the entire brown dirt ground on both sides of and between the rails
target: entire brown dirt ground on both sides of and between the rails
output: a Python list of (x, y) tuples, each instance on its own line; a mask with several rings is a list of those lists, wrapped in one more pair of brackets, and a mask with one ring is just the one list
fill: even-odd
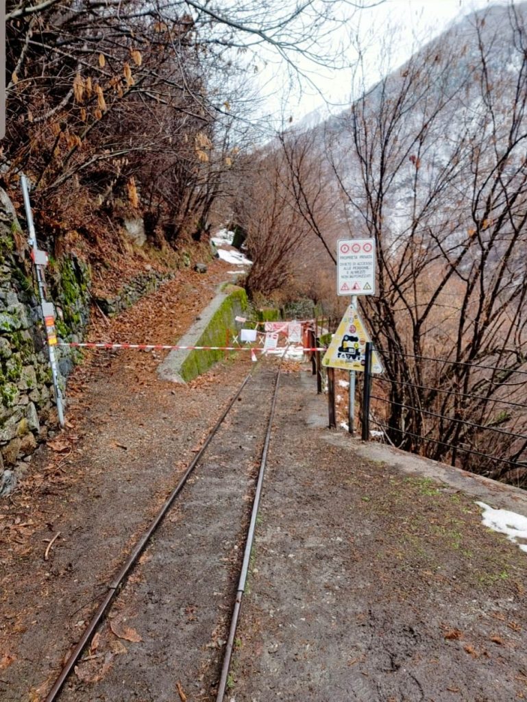
[[(185, 272), (119, 319), (100, 318), (93, 340), (171, 343), (227, 268)], [(106, 583), (254, 367), (244, 355), (171, 385), (156, 376), (162, 357), (87, 356), (69, 384), (69, 428), (0, 504), (2, 701), (44, 697)], [(215, 699), (273, 364), (258, 364), (65, 700)], [(469, 497), (408, 475), (401, 456), (362, 458), (360, 442), (326, 429), (309, 369), (286, 371), (226, 699), (527, 698), (527, 555), (482, 526), (482, 489)]]

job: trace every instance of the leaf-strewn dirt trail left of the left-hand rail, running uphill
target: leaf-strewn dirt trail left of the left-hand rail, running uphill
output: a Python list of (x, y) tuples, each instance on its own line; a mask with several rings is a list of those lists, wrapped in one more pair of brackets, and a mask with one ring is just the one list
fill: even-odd
[[(91, 340), (173, 343), (228, 266), (181, 272)], [(155, 336), (154, 336), (155, 335)], [(251, 362), (187, 386), (163, 383), (163, 355), (95, 352), (68, 385), (68, 428), (0, 503), (0, 699), (37, 701), (79, 640), (109, 576), (149, 523)], [(44, 559), (46, 548), (57, 534)]]

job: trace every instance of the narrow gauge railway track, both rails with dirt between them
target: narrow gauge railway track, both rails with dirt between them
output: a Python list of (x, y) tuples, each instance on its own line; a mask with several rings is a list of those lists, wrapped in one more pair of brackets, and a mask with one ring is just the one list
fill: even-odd
[[(248, 571), (279, 376), (280, 369), (271, 371), (257, 364), (241, 383), (180, 482), (108, 584), (107, 594), (60, 671), (46, 702), (54, 702), (59, 697), (68, 701), (112, 699), (117, 702), (134, 698), (145, 702), (172, 701), (178, 694), (181, 699), (185, 698), (184, 689), (189, 685), (199, 687), (200, 699), (222, 699), (228, 687), (229, 656)], [(272, 388), (270, 392), (269, 388)], [(246, 393), (242, 396), (244, 390)], [(270, 402), (266, 395), (271, 395)], [(236, 402), (238, 400), (241, 402)], [(218, 448), (215, 438), (221, 444)], [(197, 466), (200, 470), (194, 474)], [(187, 490), (183, 491), (185, 485)], [(255, 496), (246, 536), (242, 524), (248, 519), (250, 497), (247, 493), (251, 492)], [(182, 493), (189, 494), (187, 500), (176, 501)], [(154, 534), (155, 539), (152, 538)], [(235, 592), (232, 570), (234, 564), (239, 567), (242, 541), (246, 548)], [(221, 557), (222, 552), (227, 552), (227, 557)], [(145, 572), (135, 578), (139, 584), (128, 583), (142, 555), (138, 569)], [(209, 561), (212, 567), (208, 567)], [(225, 634), (228, 629), (225, 611), (231, 607), (234, 595), (234, 618), (220, 675), (218, 654), (224, 642), (219, 633)], [(220, 596), (229, 602), (228, 608), (218, 602)], [(142, 650), (138, 650), (136, 640), (141, 639), (140, 635), (128, 628), (123, 638), (135, 640), (134, 650), (122, 656), (114, 656), (111, 649), (105, 652), (105, 645), (109, 647), (114, 633), (111, 625), (114, 609), (121, 611), (116, 618), (121, 616), (122, 619), (123, 611), (131, 612), (131, 619), (138, 621), (138, 630), (147, 629), (140, 646)], [(152, 614), (154, 609), (161, 614), (159, 611)], [(138, 612), (141, 613), (139, 617)], [(184, 630), (183, 635), (179, 635), (181, 630)], [(94, 646), (96, 634), (97, 645)], [(201, 657), (199, 665), (191, 662), (192, 656)], [(99, 673), (86, 675), (82, 667), (91, 665), (87, 661), (93, 659), (98, 659)], [(181, 661), (177, 672), (174, 661), (176, 667)], [(140, 679), (141, 671), (145, 673), (144, 680)], [(220, 682), (215, 691), (218, 678)], [(194, 691), (195, 687), (191, 691), (192, 698)]]

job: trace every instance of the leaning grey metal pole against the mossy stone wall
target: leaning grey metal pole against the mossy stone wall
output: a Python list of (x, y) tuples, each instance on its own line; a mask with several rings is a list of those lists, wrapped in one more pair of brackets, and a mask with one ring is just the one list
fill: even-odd
[(33, 224), (33, 213), (31, 211), (31, 202), (29, 201), (29, 187), (27, 179), (22, 174), (20, 176), (20, 185), (22, 186), (22, 195), (24, 197), (24, 207), (27, 219), (27, 230), (29, 232), (29, 246), (32, 248), (32, 259), (36, 271), (36, 281), (39, 286), (40, 311), (44, 327), (46, 329), (46, 340), (48, 343), (49, 364), (51, 366), (51, 376), (53, 378), (53, 388), (55, 390), (55, 401), (57, 403), (58, 421), (61, 427), (64, 427), (64, 409), (62, 405), (62, 392), (58, 383), (58, 367), (55, 357), (55, 345), (57, 336), (55, 334), (55, 310), (53, 304), (46, 302), (46, 282), (44, 281), (44, 267), (48, 263), (48, 257), (45, 251), (39, 251), (36, 245), (36, 234)]

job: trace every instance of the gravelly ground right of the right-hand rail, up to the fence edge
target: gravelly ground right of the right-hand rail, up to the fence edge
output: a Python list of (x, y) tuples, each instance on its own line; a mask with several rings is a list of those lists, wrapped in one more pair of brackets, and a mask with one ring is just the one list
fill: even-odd
[(419, 459), (408, 475), (314, 427), (311, 384), (283, 382), (228, 698), (526, 698), (527, 554)]

